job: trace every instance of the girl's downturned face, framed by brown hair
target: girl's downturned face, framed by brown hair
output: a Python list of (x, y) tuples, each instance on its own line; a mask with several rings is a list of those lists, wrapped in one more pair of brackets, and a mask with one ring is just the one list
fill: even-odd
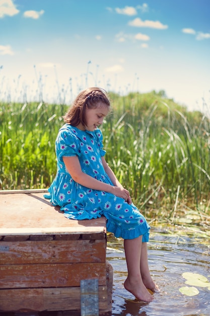
[(85, 128), (93, 132), (99, 125), (103, 123), (104, 118), (109, 113), (109, 107), (105, 103), (99, 103), (95, 109), (86, 108), (86, 122)]

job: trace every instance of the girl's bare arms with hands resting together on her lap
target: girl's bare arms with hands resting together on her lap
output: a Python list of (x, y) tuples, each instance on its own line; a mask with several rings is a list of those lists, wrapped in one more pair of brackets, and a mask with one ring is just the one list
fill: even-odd
[(72, 156), (72, 157), (63, 156), (63, 162), (65, 164), (67, 171), (69, 172), (69, 174), (71, 174), (75, 182), (93, 190), (99, 190), (99, 191), (112, 193), (128, 201), (129, 199), (128, 190), (124, 189), (120, 185), (119, 181), (116, 179), (116, 177), (114, 176), (114, 173), (108, 167), (103, 157), (102, 157), (103, 166), (105, 166), (106, 169), (108, 168), (107, 170), (105, 169), (105, 171), (106, 172), (108, 171), (108, 176), (110, 177), (111, 181), (113, 181), (114, 186), (108, 183), (101, 182), (87, 175), (86, 173), (84, 173), (81, 169), (78, 156)]

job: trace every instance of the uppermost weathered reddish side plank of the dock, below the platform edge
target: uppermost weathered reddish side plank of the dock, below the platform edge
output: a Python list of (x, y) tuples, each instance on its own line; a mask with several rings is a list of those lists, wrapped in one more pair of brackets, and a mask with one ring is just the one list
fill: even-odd
[[(97, 237), (97, 236), (96, 236)], [(105, 240), (0, 242), (1, 265), (105, 262)]]

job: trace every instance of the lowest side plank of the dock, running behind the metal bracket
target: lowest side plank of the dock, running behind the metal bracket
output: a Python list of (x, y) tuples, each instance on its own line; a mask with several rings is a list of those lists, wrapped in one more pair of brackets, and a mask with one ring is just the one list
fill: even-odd
[[(0, 290), (3, 311), (80, 310), (80, 287)], [(99, 286), (99, 309), (107, 308), (107, 286)]]

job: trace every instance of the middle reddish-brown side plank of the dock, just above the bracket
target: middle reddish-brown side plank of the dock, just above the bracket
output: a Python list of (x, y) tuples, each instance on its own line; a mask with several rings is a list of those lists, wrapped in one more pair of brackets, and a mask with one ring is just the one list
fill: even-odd
[(106, 285), (106, 263), (0, 266), (0, 288), (80, 286), (80, 280), (99, 279)]

